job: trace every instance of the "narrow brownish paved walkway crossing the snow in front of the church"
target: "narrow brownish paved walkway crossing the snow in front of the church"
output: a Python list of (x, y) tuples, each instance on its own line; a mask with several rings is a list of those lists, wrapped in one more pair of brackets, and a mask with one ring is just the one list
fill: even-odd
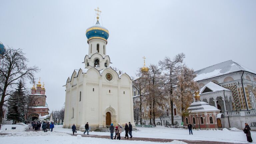
[[(42, 129), (40, 129), (42, 130)], [(26, 131), (35, 131), (32, 129), (32, 127), (30, 129), (26, 129)], [(67, 133), (70, 134), (70, 133)], [(73, 136), (73, 134), (70, 134)], [(76, 134), (76, 135), (81, 135), (82, 137), (93, 137), (93, 138), (106, 138), (106, 139), (110, 139), (110, 136), (103, 136), (103, 135), (83, 135), (83, 134)], [(125, 139), (124, 137), (121, 137), (121, 140), (135, 140), (135, 141), (151, 141), (151, 142), (172, 142), (175, 139), (158, 139), (158, 138), (139, 138), (139, 137), (133, 137), (132, 139)], [(183, 141), (186, 142), (188, 144), (242, 144), (242, 143), (229, 143), (229, 142), (215, 142), (215, 141), (195, 141), (195, 140), (178, 140), (178, 141)]]

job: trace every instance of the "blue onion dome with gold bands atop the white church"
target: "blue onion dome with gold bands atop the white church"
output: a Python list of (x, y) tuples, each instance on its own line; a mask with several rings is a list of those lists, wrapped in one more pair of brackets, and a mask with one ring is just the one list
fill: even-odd
[(109, 36), (108, 30), (105, 27), (101, 26), (99, 21), (97, 21), (94, 26), (89, 27), (86, 30), (86, 37), (88, 39), (87, 42), (89, 42), (89, 40), (93, 38), (100, 38), (107, 41), (108, 36)]

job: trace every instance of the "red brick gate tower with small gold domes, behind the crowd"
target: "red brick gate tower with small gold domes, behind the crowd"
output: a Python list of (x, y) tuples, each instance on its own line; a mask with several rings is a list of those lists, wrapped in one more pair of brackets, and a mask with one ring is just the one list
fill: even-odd
[(36, 87), (34, 84), (31, 88), (31, 94), (29, 96), (32, 101), (32, 107), (29, 109), (28, 118), (31, 118), (32, 121), (46, 118), (46, 115), (49, 115), (49, 108), (46, 103), (44, 83), (42, 86), (40, 79)]

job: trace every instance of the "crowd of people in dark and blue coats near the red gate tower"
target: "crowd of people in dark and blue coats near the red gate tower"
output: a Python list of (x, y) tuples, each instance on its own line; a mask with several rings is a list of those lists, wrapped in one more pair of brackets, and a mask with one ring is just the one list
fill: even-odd
[(32, 126), (32, 128), (34, 129), (34, 130), (40, 130), (40, 128), (41, 128), (41, 126), (42, 126), (42, 129), (43, 129), (43, 131), (44, 132), (46, 132), (47, 131), (47, 129), (50, 131), (50, 129), (51, 129), (51, 132), (52, 132), (52, 130), (53, 130), (53, 128), (54, 128), (54, 123), (53, 122), (43, 122), (43, 124), (41, 124), (41, 122), (40, 121), (38, 121), (38, 122), (28, 122), (28, 128), (30, 129), (31, 128), (31, 126)]

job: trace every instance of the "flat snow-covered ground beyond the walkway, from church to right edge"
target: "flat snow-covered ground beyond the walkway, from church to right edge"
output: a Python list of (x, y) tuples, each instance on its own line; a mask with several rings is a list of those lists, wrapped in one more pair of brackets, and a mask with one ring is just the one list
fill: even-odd
[[(233, 143), (246, 143), (246, 135), (242, 130), (232, 128), (233, 131), (228, 129), (221, 130), (193, 130), (193, 135), (189, 135), (189, 131), (185, 129), (173, 128), (137, 128), (139, 131), (133, 131), (133, 137), (144, 138), (162, 138), (162, 139), (177, 139), (177, 140), (203, 140), (203, 141), (218, 141), (218, 142), (233, 142)], [(71, 129), (64, 129), (61, 125), (56, 126), (54, 131), (72, 133)], [(83, 134), (77, 131), (78, 134)], [(110, 135), (109, 132), (90, 132), (91, 135)], [(251, 131), (252, 140), (256, 141), (256, 132)], [(123, 132), (122, 137), (125, 136)]]

